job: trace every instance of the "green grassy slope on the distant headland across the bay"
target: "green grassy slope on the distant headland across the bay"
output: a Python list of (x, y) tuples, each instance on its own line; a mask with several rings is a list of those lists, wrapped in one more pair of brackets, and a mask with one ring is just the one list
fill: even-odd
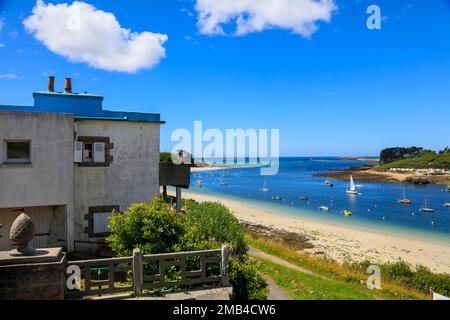
[(389, 163), (382, 164), (376, 169), (380, 171), (389, 170), (390, 168), (411, 168), (411, 169), (448, 169), (450, 168), (450, 152), (437, 154), (434, 152), (422, 152), (417, 157), (401, 159)]

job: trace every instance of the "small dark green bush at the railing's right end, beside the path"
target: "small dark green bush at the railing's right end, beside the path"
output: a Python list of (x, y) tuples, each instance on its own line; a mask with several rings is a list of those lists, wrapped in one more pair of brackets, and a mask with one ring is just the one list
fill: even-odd
[(233, 286), (232, 300), (265, 300), (269, 289), (267, 283), (258, 274), (255, 263), (249, 258), (240, 261), (230, 259), (228, 276)]

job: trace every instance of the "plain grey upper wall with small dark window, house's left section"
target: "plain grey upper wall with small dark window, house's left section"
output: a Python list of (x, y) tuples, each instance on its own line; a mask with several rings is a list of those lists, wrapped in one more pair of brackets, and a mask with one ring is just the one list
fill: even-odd
[[(2, 165), (4, 140), (31, 140), (31, 166)], [(73, 199), (73, 116), (0, 111), (0, 208)]]

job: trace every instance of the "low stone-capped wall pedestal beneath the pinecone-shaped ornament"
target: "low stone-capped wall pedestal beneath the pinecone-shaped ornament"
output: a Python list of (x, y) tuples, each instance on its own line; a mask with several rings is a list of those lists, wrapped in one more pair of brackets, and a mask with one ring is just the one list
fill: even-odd
[(20, 257), (0, 252), (0, 300), (63, 300), (65, 266), (62, 248)]

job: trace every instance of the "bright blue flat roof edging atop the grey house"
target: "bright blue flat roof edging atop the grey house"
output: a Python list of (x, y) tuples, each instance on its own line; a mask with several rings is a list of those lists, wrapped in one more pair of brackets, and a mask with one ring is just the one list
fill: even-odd
[(73, 114), (81, 120), (112, 120), (164, 123), (159, 113), (109, 111), (103, 97), (87, 93), (34, 92), (34, 106), (0, 105), (0, 111), (28, 111)]

